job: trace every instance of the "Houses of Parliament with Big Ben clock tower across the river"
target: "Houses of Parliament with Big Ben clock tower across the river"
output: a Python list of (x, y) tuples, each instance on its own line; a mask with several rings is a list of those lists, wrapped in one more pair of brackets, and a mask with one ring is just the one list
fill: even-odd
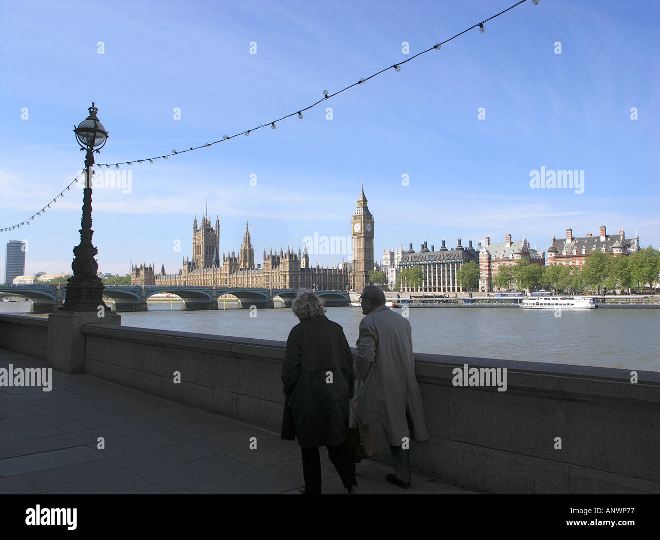
[(374, 268), (374, 217), (369, 211), (364, 187), (351, 220), (352, 268), (347, 264), (334, 268), (310, 265), (307, 246), (296, 253), (290, 248), (280, 252), (263, 251), (263, 266), (255, 267), (248, 224), (238, 255), (222, 253), (220, 260), (220, 218), (215, 227), (208, 216), (201, 225), (193, 221), (193, 259), (184, 258), (178, 274), (166, 274), (164, 265), (156, 274), (153, 264), (131, 265), (131, 285), (263, 287), (271, 289), (321, 289), (360, 291), (369, 282), (369, 270)]

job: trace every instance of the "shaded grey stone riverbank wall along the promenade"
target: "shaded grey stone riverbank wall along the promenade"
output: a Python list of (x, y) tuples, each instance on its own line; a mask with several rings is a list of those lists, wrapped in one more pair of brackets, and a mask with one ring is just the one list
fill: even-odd
[[(281, 427), (284, 342), (108, 324), (82, 326), (82, 338), (84, 373)], [(48, 362), (48, 320), (1, 315), (0, 347)], [(660, 493), (660, 373), (419, 353), (415, 363), (431, 435), (411, 442), (415, 471), (480, 493)], [(470, 368), (506, 373), (506, 390), (457, 386)], [(374, 459), (389, 463), (380, 448)]]

